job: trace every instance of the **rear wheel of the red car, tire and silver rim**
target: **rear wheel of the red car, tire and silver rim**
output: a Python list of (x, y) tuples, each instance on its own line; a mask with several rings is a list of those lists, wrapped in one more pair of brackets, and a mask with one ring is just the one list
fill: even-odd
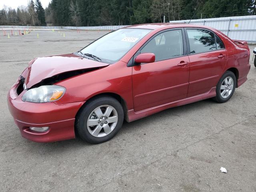
[[(226, 81), (224, 82), (224, 80), (228, 80), (229, 82), (230, 78), (232, 78), (232, 82), (233, 82), (233, 83), (230, 82), (230, 84), (232, 85), (232, 90), (231, 90), (231, 85), (227, 86), (226, 89), (223, 89), (226, 86)], [(214, 100), (216, 100), (219, 103), (227, 102), (234, 94), (235, 89), (236, 89), (236, 76), (233, 72), (226, 71), (222, 75), (222, 77), (220, 78), (216, 86), (216, 97), (214, 97)]]

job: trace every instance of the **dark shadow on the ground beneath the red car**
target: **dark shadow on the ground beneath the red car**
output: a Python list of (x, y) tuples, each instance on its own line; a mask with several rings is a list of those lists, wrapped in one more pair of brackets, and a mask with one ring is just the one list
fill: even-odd
[[(122, 126), (122, 129), (118, 132), (117, 136), (118, 138), (122, 138), (122, 135), (124, 134), (129, 134), (133, 132), (133, 130), (140, 128), (140, 126), (144, 125), (145, 122), (148, 124), (155, 123), (157, 120), (161, 120), (163, 118), (170, 118), (171, 116), (175, 117), (180, 117), (182, 118), (182, 113), (186, 111), (186, 113), (192, 113), (194, 110), (200, 109), (200, 108), (205, 108), (206, 106), (213, 105), (213, 104), (219, 104), (213, 101), (212, 99), (206, 99), (198, 102), (194, 102), (191, 104), (186, 104), (183, 106), (178, 106), (174, 108), (169, 108), (164, 111), (158, 112), (156, 114), (144, 117), (142, 119), (133, 121), (133, 122), (126, 122), (124, 121), (124, 124)], [(44, 151), (45, 153), (63, 153), (65, 151), (69, 150), (79, 150), (80, 148), (90, 148), (90, 147), (95, 147), (95, 146), (106, 146), (112, 144), (112, 142), (115, 142), (115, 138), (108, 142), (104, 142), (102, 144), (89, 144), (81, 140), (79, 137), (75, 139), (70, 139), (70, 140), (64, 140), (64, 141), (58, 141), (58, 142), (51, 142), (51, 143), (35, 143), (32, 141), (26, 140), (26, 146), (29, 148), (28, 150), (30, 152), (34, 153), (40, 153)]]

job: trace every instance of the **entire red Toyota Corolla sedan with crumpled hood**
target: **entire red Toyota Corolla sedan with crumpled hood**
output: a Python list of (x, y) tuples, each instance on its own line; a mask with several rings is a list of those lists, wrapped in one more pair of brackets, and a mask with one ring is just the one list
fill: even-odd
[[(24, 138), (101, 143), (134, 121), (207, 98), (228, 101), (250, 70), (247, 42), (207, 26), (142, 24), (32, 60), (8, 93)], [(161, 129), (161, 127), (159, 127)]]

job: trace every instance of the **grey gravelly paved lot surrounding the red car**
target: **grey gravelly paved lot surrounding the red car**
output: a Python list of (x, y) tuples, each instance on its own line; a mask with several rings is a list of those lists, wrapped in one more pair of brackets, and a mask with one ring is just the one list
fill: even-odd
[[(38, 56), (75, 52), (106, 33), (61, 32), (62, 36), (58, 30), (32, 31), (10, 38), (1, 33), (1, 192), (256, 191), (256, 68), (252, 62), (248, 81), (228, 102), (208, 99), (125, 122), (117, 136), (103, 144), (78, 139), (44, 144), (22, 138), (6, 95), (28, 62)], [(228, 173), (220, 172), (221, 166)]]

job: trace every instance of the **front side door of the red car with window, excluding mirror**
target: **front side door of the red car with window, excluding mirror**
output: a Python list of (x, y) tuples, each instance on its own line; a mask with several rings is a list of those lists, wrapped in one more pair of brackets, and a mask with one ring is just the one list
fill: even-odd
[(135, 55), (140, 53), (154, 53), (156, 60), (132, 66), (135, 112), (187, 97), (190, 63), (183, 28), (156, 34)]

